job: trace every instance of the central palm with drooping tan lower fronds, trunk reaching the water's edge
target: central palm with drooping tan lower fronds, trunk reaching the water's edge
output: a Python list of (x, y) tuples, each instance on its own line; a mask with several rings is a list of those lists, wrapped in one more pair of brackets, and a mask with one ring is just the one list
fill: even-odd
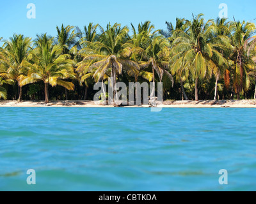
[[(94, 50), (92, 54), (86, 54), (83, 58), (84, 62), (90, 63), (89, 71), (96, 69), (94, 77), (101, 80), (106, 73), (110, 72), (111, 86), (115, 87), (117, 75), (122, 73), (123, 67), (140, 69), (138, 64), (127, 59), (127, 49), (125, 49), (125, 42), (129, 29), (121, 27), (120, 24), (107, 25), (106, 31), (100, 27), (102, 34), (99, 41), (93, 43)], [(116, 98), (116, 101), (118, 99)], [(113, 89), (113, 102), (115, 103), (115, 90)]]

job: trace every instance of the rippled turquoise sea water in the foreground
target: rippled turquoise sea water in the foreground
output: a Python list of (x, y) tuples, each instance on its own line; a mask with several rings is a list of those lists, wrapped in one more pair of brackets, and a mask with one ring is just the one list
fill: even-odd
[(254, 108), (0, 112), (1, 191), (256, 190)]

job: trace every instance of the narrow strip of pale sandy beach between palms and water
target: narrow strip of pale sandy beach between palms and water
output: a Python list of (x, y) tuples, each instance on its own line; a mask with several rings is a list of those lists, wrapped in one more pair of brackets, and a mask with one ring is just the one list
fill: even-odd
[[(113, 108), (113, 105), (102, 105), (95, 101), (0, 101), (0, 107), (80, 107), (80, 108)], [(148, 108), (148, 105), (126, 105), (124, 108)], [(256, 99), (243, 100), (205, 100), (205, 101), (163, 101), (159, 108), (256, 108)]]

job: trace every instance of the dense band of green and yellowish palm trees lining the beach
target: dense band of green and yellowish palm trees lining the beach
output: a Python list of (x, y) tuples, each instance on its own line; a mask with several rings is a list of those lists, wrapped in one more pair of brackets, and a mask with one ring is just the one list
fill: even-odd
[(93, 99), (93, 84), (110, 77), (163, 82), (164, 99), (256, 98), (255, 24), (199, 14), (166, 25), (62, 25), (33, 41), (13, 34), (0, 48), (0, 98)]

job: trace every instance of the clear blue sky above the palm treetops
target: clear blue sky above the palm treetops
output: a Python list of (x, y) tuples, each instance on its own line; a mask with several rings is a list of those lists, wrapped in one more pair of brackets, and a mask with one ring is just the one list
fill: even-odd
[[(27, 4), (36, 6), (36, 18), (28, 19)], [(106, 27), (108, 22), (137, 25), (150, 20), (156, 29), (166, 29), (165, 21), (175, 22), (176, 17), (191, 19), (191, 14), (204, 13), (205, 18), (216, 18), (219, 4), (228, 6), (228, 18), (250, 21), (256, 18), (255, 0), (8, 0), (1, 1), (0, 37), (8, 39), (13, 33), (32, 38), (36, 34), (56, 35), (56, 25), (78, 25), (89, 22)], [(256, 21), (253, 21), (256, 23)]]

